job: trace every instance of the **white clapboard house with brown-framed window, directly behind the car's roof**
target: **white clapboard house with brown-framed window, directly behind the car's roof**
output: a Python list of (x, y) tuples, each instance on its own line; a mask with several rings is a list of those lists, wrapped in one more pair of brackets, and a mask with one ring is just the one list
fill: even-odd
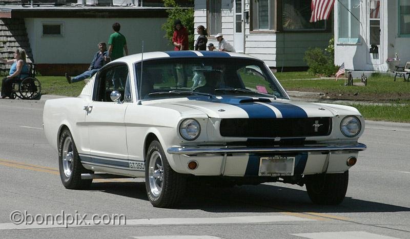
[[(195, 0), (195, 27), (208, 28), (208, 42), (222, 33), (237, 52), (262, 59), (278, 71), (306, 69), (304, 52), (325, 48), (333, 36), (329, 21), (309, 23), (311, 0)], [(195, 36), (195, 39), (198, 35)]]

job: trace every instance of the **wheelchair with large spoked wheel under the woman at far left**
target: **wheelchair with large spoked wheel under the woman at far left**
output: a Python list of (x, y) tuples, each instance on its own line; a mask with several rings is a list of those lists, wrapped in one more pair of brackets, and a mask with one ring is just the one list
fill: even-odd
[(29, 68), (29, 76), (23, 79), (16, 79), (12, 83), (10, 98), (15, 99), (16, 96), (20, 99), (36, 99), (42, 92), (42, 85), (35, 78), (34, 63), (26, 63)]

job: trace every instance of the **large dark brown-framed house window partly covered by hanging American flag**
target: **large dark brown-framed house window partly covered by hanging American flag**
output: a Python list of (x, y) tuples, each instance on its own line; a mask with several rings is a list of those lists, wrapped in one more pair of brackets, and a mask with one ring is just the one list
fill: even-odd
[(282, 28), (283, 30), (298, 31), (326, 30), (327, 21), (310, 23), (312, 10), (311, 0), (283, 0), (282, 1)]

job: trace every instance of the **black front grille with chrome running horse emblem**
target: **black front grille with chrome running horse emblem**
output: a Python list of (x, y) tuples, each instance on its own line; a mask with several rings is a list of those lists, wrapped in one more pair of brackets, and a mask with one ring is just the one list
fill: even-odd
[(332, 132), (332, 118), (224, 118), (219, 132), (223, 137), (309, 137)]

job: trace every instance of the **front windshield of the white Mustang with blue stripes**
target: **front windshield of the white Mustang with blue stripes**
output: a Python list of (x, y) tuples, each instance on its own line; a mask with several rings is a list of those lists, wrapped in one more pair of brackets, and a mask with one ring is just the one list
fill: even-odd
[[(265, 65), (245, 58), (167, 58), (135, 65), (140, 98), (246, 95), (286, 98)], [(140, 85), (142, 83), (142, 86)]]

